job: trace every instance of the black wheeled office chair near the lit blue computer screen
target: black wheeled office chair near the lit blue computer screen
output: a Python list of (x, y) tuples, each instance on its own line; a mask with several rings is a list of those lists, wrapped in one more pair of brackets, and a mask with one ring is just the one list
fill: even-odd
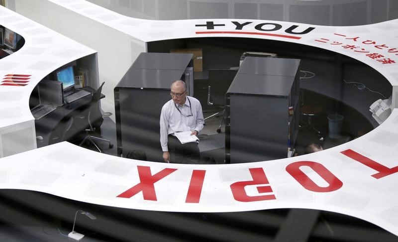
[(97, 91), (93, 94), (93, 98), (90, 102), (89, 113), (87, 115), (88, 127), (85, 129), (86, 136), (84, 137), (82, 142), (79, 144), (79, 146), (82, 146), (86, 141), (89, 141), (101, 153), (102, 153), (102, 149), (96, 143), (96, 141), (105, 141), (108, 143), (109, 148), (113, 147), (113, 144), (110, 142), (110, 140), (104, 139), (102, 136), (97, 137), (97, 136), (91, 135), (92, 132), (96, 131), (96, 127), (100, 127), (103, 122), (103, 117), (102, 117), (101, 110), (100, 110), (100, 96), (101, 96), (102, 86), (104, 83), (105, 82), (103, 82), (101, 84), (101, 86), (97, 89)]

